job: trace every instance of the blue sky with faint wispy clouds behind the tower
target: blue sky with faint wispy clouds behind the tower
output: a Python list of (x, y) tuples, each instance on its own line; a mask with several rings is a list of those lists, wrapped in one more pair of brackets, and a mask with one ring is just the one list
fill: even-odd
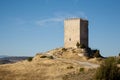
[(89, 20), (89, 46), (120, 53), (120, 0), (0, 0), (0, 55), (34, 56), (64, 42), (64, 19)]

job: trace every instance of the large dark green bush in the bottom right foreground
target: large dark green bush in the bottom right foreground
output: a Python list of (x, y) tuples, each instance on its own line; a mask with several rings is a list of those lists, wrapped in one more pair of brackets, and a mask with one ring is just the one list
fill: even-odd
[(116, 58), (110, 57), (103, 61), (96, 70), (94, 80), (120, 80), (120, 68), (117, 67)]

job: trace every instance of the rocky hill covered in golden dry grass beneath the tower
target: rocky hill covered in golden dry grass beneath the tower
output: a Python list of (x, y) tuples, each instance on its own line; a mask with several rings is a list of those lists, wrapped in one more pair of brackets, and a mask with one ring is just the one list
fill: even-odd
[(99, 64), (84, 50), (57, 48), (13, 64), (0, 65), (0, 80), (91, 80)]

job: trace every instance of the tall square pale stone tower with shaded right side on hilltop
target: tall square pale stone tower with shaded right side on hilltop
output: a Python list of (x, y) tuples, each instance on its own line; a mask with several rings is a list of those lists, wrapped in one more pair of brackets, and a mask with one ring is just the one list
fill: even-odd
[(76, 48), (76, 43), (88, 47), (88, 21), (80, 18), (64, 20), (64, 47)]

